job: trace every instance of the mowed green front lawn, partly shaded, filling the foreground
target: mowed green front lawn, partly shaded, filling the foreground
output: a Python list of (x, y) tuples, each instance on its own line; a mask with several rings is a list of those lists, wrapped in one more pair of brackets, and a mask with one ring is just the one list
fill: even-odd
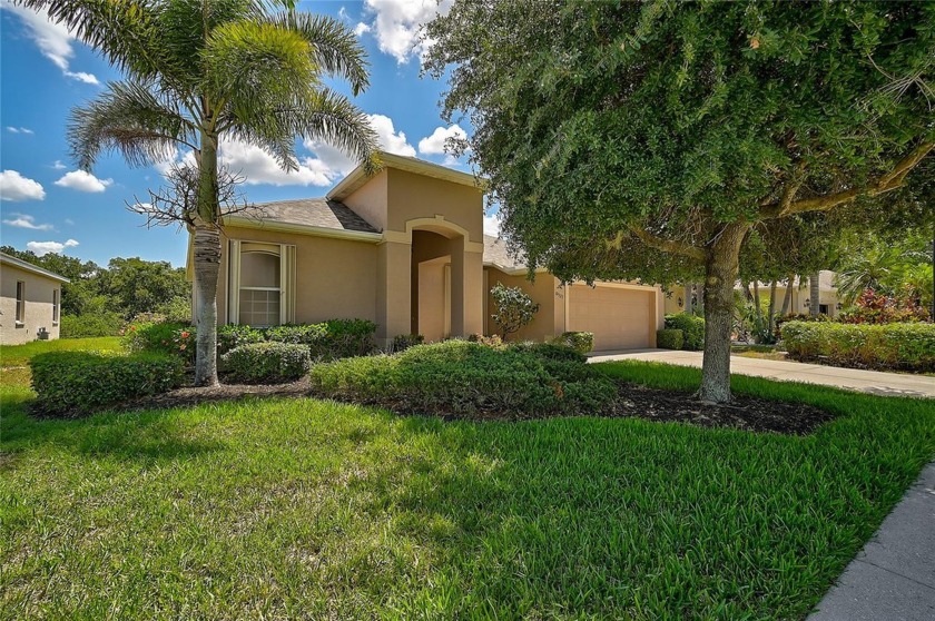
[(803, 618), (935, 454), (935, 404), (735, 390), (843, 417), (787, 437), (247, 400), (50, 421), (4, 385), (0, 614)]

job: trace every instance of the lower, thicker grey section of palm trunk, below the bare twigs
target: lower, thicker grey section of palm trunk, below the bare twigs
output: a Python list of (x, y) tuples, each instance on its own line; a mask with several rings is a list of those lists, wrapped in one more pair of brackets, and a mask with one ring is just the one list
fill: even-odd
[(220, 270), (220, 231), (195, 227), (195, 385), (216, 386), (217, 381), (217, 276)]

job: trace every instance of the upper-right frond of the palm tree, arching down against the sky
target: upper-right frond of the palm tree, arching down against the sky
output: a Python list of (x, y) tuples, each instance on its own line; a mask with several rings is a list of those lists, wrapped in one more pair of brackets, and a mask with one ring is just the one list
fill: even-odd
[(366, 52), (346, 26), (327, 16), (286, 11), (267, 18), (269, 23), (293, 30), (312, 46), (315, 62), (328, 75), (351, 82), (356, 96), (370, 86)]

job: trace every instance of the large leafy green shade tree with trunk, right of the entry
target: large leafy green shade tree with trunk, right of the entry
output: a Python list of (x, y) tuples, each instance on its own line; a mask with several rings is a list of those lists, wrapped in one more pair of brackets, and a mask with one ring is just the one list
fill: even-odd
[(531, 267), (703, 279), (703, 400), (751, 227), (931, 193), (931, 2), (464, 0), (425, 37)]

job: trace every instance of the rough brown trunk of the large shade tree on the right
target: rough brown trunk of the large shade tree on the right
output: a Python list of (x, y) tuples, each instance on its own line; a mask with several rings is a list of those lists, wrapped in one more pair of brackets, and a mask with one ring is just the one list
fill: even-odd
[(730, 332), (734, 283), (747, 223), (727, 225), (708, 248), (705, 263), (705, 356), (701, 362), (701, 401), (730, 401)]

